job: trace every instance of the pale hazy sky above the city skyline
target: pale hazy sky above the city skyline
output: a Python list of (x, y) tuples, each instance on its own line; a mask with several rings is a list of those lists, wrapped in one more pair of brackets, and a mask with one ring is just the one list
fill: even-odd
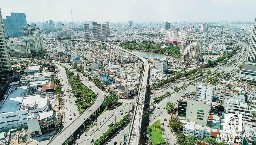
[(1, 0), (2, 16), (26, 13), (27, 22), (249, 21), (256, 0)]

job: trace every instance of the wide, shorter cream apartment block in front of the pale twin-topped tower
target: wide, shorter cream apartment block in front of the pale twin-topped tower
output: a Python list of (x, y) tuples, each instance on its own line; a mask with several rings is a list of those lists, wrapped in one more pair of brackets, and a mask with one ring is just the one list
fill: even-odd
[(10, 55), (11, 57), (22, 57), (30, 58), (32, 57), (30, 51), (30, 45), (27, 41), (10, 41), (9, 42)]

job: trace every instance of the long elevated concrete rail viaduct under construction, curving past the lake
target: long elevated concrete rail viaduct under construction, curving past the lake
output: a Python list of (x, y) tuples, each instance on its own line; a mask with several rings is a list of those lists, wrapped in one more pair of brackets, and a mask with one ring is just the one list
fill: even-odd
[[(51, 38), (51, 39), (53, 39), (53, 38)], [(134, 145), (139, 144), (139, 138), (140, 138), (140, 132), (141, 132), (141, 124), (142, 124), (142, 115), (143, 115), (143, 108), (144, 108), (144, 101), (145, 101), (145, 93), (146, 93), (146, 89), (147, 89), (148, 72), (149, 72), (148, 61), (145, 58), (143, 58), (142, 56), (140, 56), (140, 55), (137, 55), (137, 54), (135, 54), (133, 52), (127, 51), (127, 50), (122, 49), (122, 48), (120, 48), (118, 46), (115, 46), (113, 44), (109, 44), (109, 43), (106, 43), (106, 42), (102, 42), (102, 41), (85, 40), (85, 39), (59, 39), (59, 40), (82, 40), (82, 41), (100, 42), (100, 43), (107, 44), (111, 48), (120, 49), (120, 50), (122, 50), (124, 52), (127, 52), (127, 53), (130, 53), (132, 55), (135, 55), (135, 56), (137, 56), (138, 58), (140, 58), (143, 61), (143, 63), (144, 63), (144, 70), (143, 70), (142, 80), (141, 80), (141, 83), (140, 83), (140, 86), (139, 86), (138, 96), (136, 97), (136, 105), (135, 105), (135, 108), (134, 108), (136, 111), (134, 111), (134, 114), (133, 114), (133, 118), (132, 118), (132, 121), (131, 121), (131, 125), (130, 125), (130, 129), (129, 129), (129, 132), (128, 132), (128, 136), (127, 136), (127, 142), (128, 143), (126, 143), (126, 144), (134, 144)], [(76, 120), (74, 120), (74, 122), (75, 121)], [(81, 121), (80, 121), (80, 123), (81, 123)], [(80, 126), (82, 124), (83, 123), (81, 123)], [(80, 127), (80, 126), (78, 126), (78, 127)], [(76, 127), (76, 130), (77, 129), (78, 128)], [(58, 135), (58, 136), (60, 136), (60, 135)]]

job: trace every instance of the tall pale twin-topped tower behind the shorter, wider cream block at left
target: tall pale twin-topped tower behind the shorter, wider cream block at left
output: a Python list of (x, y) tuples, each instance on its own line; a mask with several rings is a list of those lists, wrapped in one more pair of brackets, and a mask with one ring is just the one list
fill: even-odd
[(22, 27), (24, 41), (30, 44), (30, 51), (32, 55), (37, 56), (42, 54), (43, 49), (43, 35), (36, 24), (24, 24)]

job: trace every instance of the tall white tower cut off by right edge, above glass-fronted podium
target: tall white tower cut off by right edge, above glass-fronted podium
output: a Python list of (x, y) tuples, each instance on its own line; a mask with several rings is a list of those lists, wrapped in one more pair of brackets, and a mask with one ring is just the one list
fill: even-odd
[(254, 19), (254, 25), (251, 31), (251, 42), (248, 51), (247, 61), (256, 62), (256, 14)]

